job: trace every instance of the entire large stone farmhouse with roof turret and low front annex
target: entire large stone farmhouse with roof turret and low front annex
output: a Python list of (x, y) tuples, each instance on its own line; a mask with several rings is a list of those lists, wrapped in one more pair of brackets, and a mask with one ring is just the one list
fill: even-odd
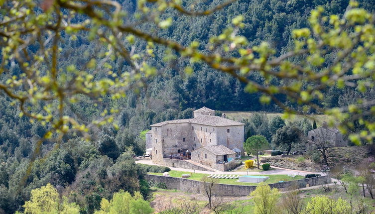
[(156, 164), (168, 165), (175, 159), (220, 170), (220, 164), (244, 154), (244, 127), (224, 113), (215, 116), (215, 110), (202, 107), (194, 111), (194, 118), (152, 124), (146, 146), (152, 148)]

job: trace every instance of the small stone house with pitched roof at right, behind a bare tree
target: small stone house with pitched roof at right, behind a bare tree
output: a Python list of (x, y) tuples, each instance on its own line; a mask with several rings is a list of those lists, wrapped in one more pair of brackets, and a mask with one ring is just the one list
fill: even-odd
[(348, 142), (344, 140), (343, 134), (337, 128), (328, 127), (327, 122), (319, 128), (313, 129), (308, 132), (310, 141), (326, 141), (332, 144), (332, 147), (344, 147)]

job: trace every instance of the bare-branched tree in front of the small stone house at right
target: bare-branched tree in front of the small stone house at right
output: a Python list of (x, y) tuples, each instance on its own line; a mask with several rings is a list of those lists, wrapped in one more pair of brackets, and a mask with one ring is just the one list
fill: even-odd
[(324, 163), (328, 165), (327, 149), (333, 146), (333, 132), (325, 123), (322, 127), (314, 130), (314, 139), (309, 140), (323, 155)]

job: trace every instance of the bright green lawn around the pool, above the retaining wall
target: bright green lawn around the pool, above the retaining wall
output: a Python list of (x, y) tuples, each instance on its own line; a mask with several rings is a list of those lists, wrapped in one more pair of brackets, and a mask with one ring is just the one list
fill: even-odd
[[(151, 173), (151, 175), (163, 175), (163, 173)], [(169, 171), (170, 177), (181, 178), (182, 174), (190, 174), (190, 178), (192, 180), (200, 181), (204, 176), (209, 176), (208, 174), (203, 173), (191, 173), (191, 172), (182, 172), (182, 171)], [(217, 174), (225, 174), (225, 173), (217, 173)], [(261, 176), (268, 176), (269, 178), (265, 180), (266, 184), (277, 183), (279, 181), (293, 181), (293, 180), (300, 180), (303, 179), (303, 176), (296, 176), (295, 178), (289, 177), (287, 175), (261, 175)], [(248, 186), (257, 186), (257, 183), (247, 183), (247, 182), (238, 182), (238, 179), (216, 179), (218, 180), (219, 184), (234, 184), (234, 185), (248, 185)]]

